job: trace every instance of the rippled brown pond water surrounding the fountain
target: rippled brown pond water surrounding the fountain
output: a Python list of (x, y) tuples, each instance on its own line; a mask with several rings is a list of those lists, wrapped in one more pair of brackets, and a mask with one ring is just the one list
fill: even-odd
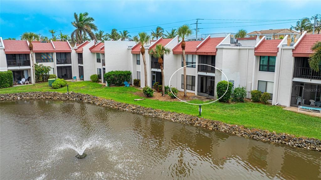
[[(321, 153), (63, 101), (1, 102), (1, 179), (321, 179)], [(76, 159), (71, 147), (88, 147)]]

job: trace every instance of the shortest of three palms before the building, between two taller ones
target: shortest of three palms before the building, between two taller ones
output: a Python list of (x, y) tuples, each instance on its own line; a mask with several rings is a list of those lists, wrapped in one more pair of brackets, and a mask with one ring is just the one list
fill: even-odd
[(164, 47), (161, 44), (156, 45), (155, 50), (151, 49), (149, 51), (154, 58), (158, 58), (158, 64), (160, 65), (160, 71), (161, 71), (161, 78), (162, 78), (162, 96), (165, 95), (165, 78), (164, 78), (164, 68), (163, 68), (163, 57), (164, 54), (169, 54), (170, 49), (168, 47)]

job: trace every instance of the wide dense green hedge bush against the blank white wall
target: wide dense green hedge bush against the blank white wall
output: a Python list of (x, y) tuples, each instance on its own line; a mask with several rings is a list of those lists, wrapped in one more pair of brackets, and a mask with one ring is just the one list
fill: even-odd
[(132, 72), (130, 71), (109, 71), (104, 74), (104, 79), (108, 85), (122, 86), (125, 81), (130, 82)]

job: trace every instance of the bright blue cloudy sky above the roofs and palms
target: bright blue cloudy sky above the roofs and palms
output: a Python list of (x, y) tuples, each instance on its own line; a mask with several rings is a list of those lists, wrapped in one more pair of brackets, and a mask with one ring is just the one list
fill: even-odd
[[(200, 34), (247, 32), (262, 29), (290, 28), (295, 25), (293, 19), (311, 17), (321, 13), (318, 1), (0, 1), (0, 36), (20, 39), (23, 32), (41, 33), (50, 37), (49, 29), (61, 30), (71, 34), (74, 12), (88, 12), (95, 19), (98, 29), (109, 33), (112, 28), (127, 29), (130, 35), (139, 31), (150, 32), (164, 23), (191, 20), (180, 23), (161, 25), (165, 30), (192, 24), (192, 19), (234, 19), (234, 20), (199, 20)], [(243, 21), (235, 21), (241, 19)], [(279, 22), (248, 22), (244, 20), (289, 20)], [(221, 24), (205, 24), (218, 23)], [(226, 23), (232, 22), (232, 23)], [(242, 22), (242, 23), (236, 23)], [(272, 23), (282, 24), (272, 24)], [(283, 23), (292, 22), (292, 23)], [(271, 24), (271, 25), (260, 25)], [(230, 27), (246, 26), (248, 27)], [(195, 28), (195, 25), (191, 25)], [(230, 27), (230, 28), (220, 28)], [(134, 29), (129, 29), (134, 28)]]

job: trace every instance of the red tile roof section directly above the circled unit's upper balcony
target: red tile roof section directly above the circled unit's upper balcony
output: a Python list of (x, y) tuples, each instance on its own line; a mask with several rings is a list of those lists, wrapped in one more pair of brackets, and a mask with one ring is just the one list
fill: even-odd
[(198, 55), (216, 55), (216, 46), (221, 43), (225, 37), (207, 38), (197, 48), (196, 54)]

